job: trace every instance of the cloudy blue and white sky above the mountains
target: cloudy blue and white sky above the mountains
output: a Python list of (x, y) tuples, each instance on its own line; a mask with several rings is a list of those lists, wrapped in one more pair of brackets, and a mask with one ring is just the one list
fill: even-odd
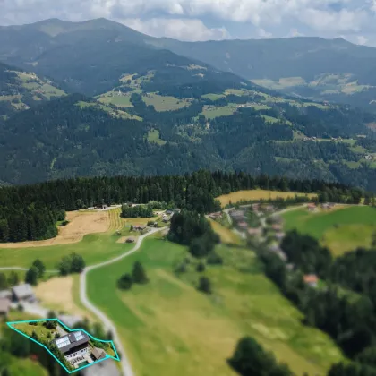
[(0, 25), (106, 17), (156, 37), (342, 37), (376, 47), (376, 0), (0, 0)]

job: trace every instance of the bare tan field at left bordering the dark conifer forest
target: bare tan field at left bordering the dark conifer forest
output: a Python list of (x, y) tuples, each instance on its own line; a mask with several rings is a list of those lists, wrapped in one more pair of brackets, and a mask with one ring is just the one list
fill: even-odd
[(66, 213), (70, 222), (67, 226), (59, 227), (59, 234), (53, 239), (35, 242), (4, 243), (0, 248), (30, 248), (57, 244), (71, 244), (80, 242), (84, 235), (105, 233), (109, 227), (108, 211)]

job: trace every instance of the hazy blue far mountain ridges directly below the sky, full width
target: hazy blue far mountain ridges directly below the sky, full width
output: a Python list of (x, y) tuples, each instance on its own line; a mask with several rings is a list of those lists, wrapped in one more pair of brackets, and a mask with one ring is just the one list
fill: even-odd
[(168, 58), (175, 60), (160, 49), (288, 95), (376, 111), (376, 48), (341, 38), (181, 42), (152, 38), (106, 19), (0, 27), (0, 60), (87, 95), (110, 89), (123, 73), (142, 73), (156, 69), (150, 63), (160, 67), (169, 64)]

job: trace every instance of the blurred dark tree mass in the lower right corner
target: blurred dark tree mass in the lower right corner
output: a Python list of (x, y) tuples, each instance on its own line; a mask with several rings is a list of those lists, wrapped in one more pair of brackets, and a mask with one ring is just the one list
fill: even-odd
[[(286, 262), (266, 249), (258, 254), (265, 273), (304, 313), (304, 323), (329, 334), (352, 360), (336, 364), (329, 376), (376, 372), (376, 235), (372, 249), (358, 249), (333, 259), (329, 250), (310, 235), (289, 232), (281, 244)], [(303, 282), (316, 274), (322, 286)], [(352, 373), (353, 372), (353, 373)]]

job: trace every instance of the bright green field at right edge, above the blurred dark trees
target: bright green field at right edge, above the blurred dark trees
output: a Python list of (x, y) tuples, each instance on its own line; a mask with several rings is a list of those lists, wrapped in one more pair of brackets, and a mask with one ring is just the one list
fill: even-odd
[(296, 228), (314, 236), (335, 256), (356, 247), (369, 248), (376, 231), (376, 209), (371, 207), (354, 206), (319, 213), (296, 209), (286, 212), (283, 217), (287, 230)]

